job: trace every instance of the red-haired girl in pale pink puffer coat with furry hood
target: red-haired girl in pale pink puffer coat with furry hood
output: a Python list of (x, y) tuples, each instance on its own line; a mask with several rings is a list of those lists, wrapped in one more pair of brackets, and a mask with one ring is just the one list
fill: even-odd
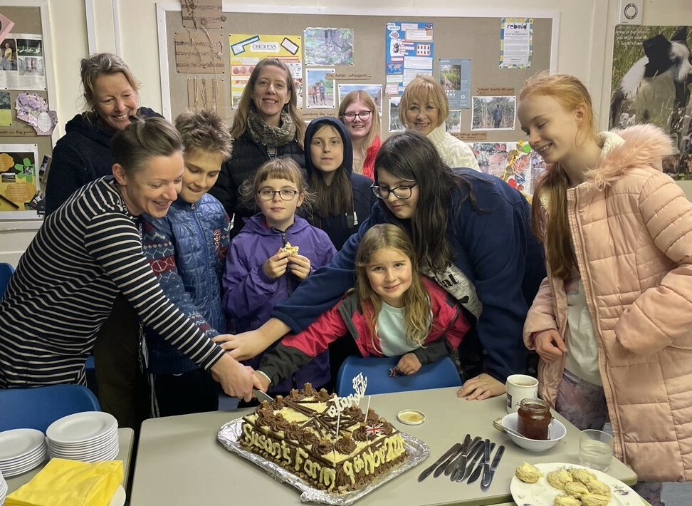
[(523, 333), (540, 396), (581, 429), (609, 417), (616, 458), (659, 505), (661, 480), (692, 480), (692, 204), (661, 172), (671, 140), (653, 125), (597, 133), (572, 76), (539, 73), (519, 98), (547, 163), (532, 211), (547, 278)]

